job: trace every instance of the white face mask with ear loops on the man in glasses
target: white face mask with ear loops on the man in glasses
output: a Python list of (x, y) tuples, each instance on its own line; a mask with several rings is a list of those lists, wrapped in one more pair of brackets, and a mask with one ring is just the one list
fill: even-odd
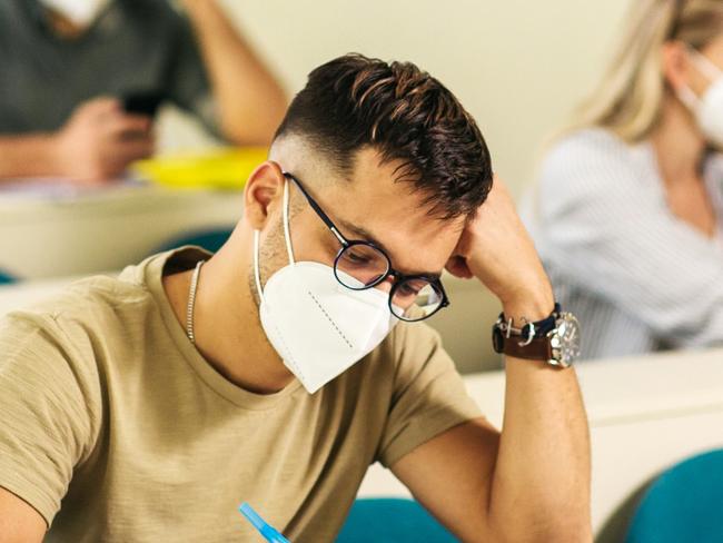
[(289, 264), (261, 290), (256, 230), (254, 273), (264, 332), (286, 367), (313, 394), (377, 347), (398, 319), (389, 312), (387, 293), (351, 290), (339, 284), (334, 268), (294, 260), (288, 190), (286, 181), (283, 213)]

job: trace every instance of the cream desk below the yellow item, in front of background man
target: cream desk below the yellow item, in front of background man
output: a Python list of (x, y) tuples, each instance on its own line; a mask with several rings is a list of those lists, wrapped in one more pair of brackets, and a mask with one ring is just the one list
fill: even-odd
[(241, 209), (240, 191), (0, 190), (0, 269), (30, 279), (120, 269), (186, 231), (231, 228)]

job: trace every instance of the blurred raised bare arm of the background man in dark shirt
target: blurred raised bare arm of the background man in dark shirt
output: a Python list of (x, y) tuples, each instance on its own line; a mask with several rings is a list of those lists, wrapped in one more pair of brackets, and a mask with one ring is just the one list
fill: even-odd
[(286, 95), (216, 0), (185, 0), (200, 42), (220, 128), (238, 145), (269, 145), (286, 110)]

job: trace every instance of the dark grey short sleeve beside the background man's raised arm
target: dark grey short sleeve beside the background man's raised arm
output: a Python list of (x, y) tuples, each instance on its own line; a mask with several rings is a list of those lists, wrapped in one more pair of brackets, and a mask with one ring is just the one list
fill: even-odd
[(188, 18), (171, 11), (175, 31), (172, 61), (166, 87), (168, 98), (182, 110), (192, 113), (216, 137), (221, 137), (218, 107), (200, 46)]

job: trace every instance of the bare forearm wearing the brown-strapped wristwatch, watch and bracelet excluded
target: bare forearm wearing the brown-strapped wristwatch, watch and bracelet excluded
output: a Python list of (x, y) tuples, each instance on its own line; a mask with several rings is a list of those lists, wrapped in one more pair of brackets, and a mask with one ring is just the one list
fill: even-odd
[[(505, 315), (537, 320), (552, 294), (505, 304)], [(488, 519), (504, 540), (592, 541), (590, 436), (574, 369), (506, 359), (505, 415)]]

